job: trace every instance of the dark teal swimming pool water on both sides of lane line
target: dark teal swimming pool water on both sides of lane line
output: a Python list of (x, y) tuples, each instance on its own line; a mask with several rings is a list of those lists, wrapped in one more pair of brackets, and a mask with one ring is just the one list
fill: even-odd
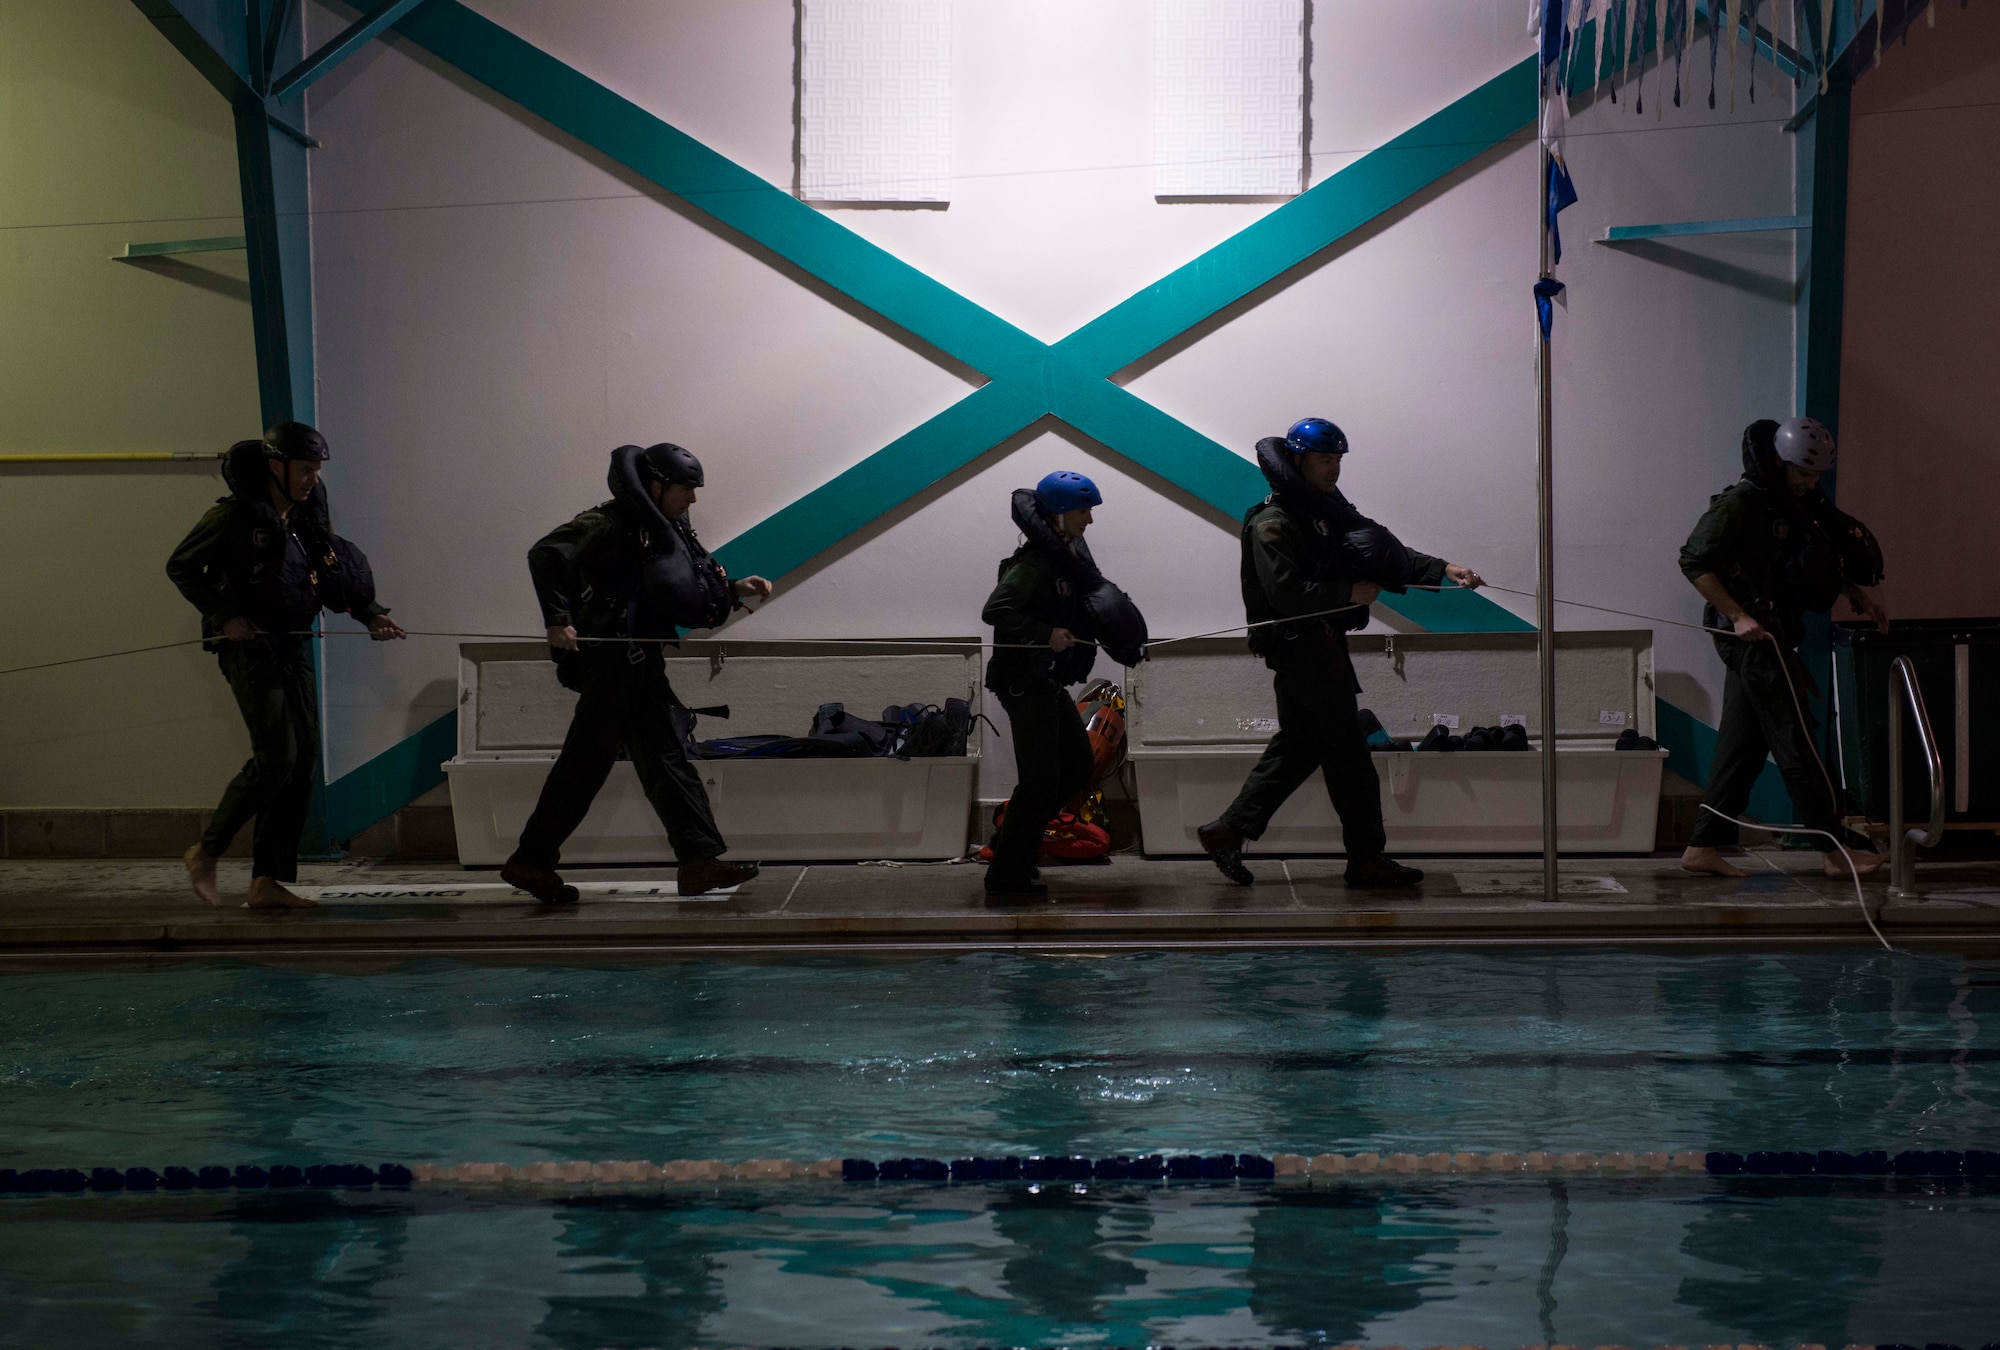
[[(1994, 1148), (1910, 954), (0, 976), (0, 1166)], [(1970, 1182), (0, 1198), (0, 1344), (2000, 1340)]]

